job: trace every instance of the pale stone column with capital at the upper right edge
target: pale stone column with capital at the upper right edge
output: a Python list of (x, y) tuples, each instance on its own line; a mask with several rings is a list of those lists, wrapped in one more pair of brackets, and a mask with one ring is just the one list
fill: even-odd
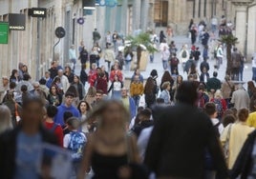
[(236, 32), (235, 36), (238, 38), (239, 44), (238, 50), (241, 50), (245, 54), (246, 48), (246, 30), (247, 30), (247, 6), (253, 0), (233, 0), (235, 5), (235, 17), (236, 17)]

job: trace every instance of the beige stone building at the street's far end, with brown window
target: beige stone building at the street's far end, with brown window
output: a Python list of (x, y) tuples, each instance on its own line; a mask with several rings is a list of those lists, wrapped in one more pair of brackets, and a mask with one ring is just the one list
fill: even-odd
[(154, 0), (153, 22), (156, 27), (171, 26), (176, 34), (185, 34), (190, 19), (195, 23), (204, 21), (210, 24), (211, 18), (221, 19), (227, 15), (227, 0)]

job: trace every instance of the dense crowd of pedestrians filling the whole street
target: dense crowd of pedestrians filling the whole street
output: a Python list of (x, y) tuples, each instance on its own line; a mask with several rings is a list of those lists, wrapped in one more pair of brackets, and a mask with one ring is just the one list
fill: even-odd
[[(50, 163), (42, 161), (45, 143), (69, 151), (67, 178), (255, 178), (256, 87), (249, 81), (245, 90), (233, 82), (243, 81), (244, 58), (236, 48), (231, 76), (219, 79), (222, 44), (214, 50), (216, 70), (209, 74), (209, 37), (203, 31), (203, 53), (195, 39), (191, 50), (183, 45), (179, 52), (161, 32), (160, 83), (158, 70), (144, 78), (136, 69), (125, 81), (123, 70), (130, 70), (134, 54), (117, 50), (116, 31), (107, 33), (102, 51), (95, 30), (90, 53), (81, 42), (76, 58), (72, 46), (71, 64), (53, 61), (38, 81), (20, 63), (2, 77), (0, 88), (1, 178), (53, 178), (43, 168)], [(99, 66), (101, 57), (107, 70)], [(256, 64), (256, 55), (252, 61)]]

